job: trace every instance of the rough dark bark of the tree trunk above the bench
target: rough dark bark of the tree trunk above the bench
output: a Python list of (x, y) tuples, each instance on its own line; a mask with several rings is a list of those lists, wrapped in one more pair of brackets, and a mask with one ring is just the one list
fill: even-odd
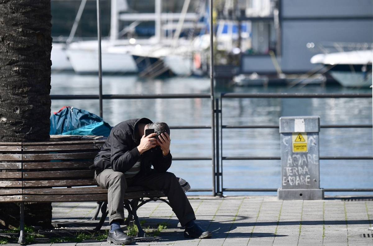
[(49, 141), (50, 0), (0, 0), (0, 142)]

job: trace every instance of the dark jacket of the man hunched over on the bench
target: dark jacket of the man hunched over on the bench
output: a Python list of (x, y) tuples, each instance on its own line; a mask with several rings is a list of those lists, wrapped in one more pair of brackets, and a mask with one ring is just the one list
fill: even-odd
[(149, 124), (153, 122), (147, 118), (132, 119), (114, 126), (90, 169), (96, 169), (100, 172), (112, 168), (114, 171), (125, 173), (141, 157), (139, 174), (149, 173), (152, 165), (158, 172), (166, 172), (171, 166), (172, 156), (170, 153), (163, 156), (162, 150), (157, 146), (140, 155), (137, 149), (142, 137), (138, 132), (140, 123)]

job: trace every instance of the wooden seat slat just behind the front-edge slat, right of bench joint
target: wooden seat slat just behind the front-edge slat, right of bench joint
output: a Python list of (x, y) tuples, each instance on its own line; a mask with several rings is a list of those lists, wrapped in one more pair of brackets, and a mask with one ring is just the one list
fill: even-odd
[(107, 190), (101, 187), (84, 187), (84, 188), (56, 188), (56, 189), (24, 189), (24, 194), (41, 194), (41, 195), (81, 195), (81, 194), (107, 194)]

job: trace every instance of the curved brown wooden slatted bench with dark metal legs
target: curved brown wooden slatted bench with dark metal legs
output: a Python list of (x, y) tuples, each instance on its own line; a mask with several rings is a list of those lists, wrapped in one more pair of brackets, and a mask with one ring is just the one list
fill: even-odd
[[(94, 181), (94, 170), (88, 169), (104, 144), (92, 136), (52, 135), (50, 142), (0, 143), (0, 203), (20, 203), (20, 235), (18, 243), (25, 242), (25, 202), (97, 202), (92, 219), (102, 212), (94, 230), (99, 231), (107, 217), (107, 190)], [(137, 209), (152, 200), (162, 200), (163, 191), (128, 187), (124, 207), (128, 210), (125, 223), (134, 219), (139, 233), (144, 236)], [(148, 198), (148, 199), (145, 199)]]

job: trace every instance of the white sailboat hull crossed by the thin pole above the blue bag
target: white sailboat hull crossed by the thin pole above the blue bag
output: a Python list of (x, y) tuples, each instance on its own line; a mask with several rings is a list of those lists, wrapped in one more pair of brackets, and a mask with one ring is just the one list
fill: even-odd
[[(76, 73), (97, 73), (97, 50), (69, 49), (67, 51), (71, 65)], [(137, 67), (130, 53), (102, 52), (103, 73), (135, 73)]]

